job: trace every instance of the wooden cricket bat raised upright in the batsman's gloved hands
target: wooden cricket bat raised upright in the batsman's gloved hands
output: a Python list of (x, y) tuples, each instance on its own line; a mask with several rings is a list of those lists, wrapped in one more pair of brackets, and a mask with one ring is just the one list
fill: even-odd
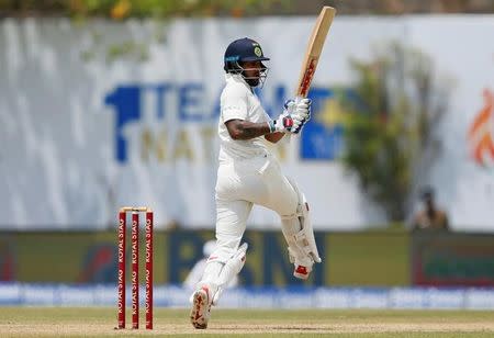
[(311, 40), (308, 41), (307, 49), (305, 52), (299, 82), (296, 83), (295, 100), (307, 97), (317, 67), (317, 61), (323, 52), (324, 42), (326, 41), (326, 35), (329, 32), (335, 14), (336, 10), (333, 7), (325, 5), (321, 11), (319, 16), (317, 16), (316, 24), (312, 31)]

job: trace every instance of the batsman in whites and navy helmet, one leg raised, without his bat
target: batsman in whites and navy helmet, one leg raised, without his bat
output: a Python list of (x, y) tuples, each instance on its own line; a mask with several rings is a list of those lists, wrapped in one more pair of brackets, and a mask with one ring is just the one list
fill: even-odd
[(267, 147), (267, 142), (278, 143), (285, 134), (300, 133), (311, 117), (311, 100), (289, 100), (271, 120), (254, 92), (266, 80), (268, 60), (261, 46), (247, 37), (234, 41), (225, 52), (226, 84), (217, 127), (216, 248), (191, 296), (190, 319), (199, 329), (207, 327), (211, 306), (244, 267), (247, 244), (240, 241), (254, 204), (280, 215), (295, 278), (307, 279), (314, 262), (321, 262), (305, 196), (281, 172)]

